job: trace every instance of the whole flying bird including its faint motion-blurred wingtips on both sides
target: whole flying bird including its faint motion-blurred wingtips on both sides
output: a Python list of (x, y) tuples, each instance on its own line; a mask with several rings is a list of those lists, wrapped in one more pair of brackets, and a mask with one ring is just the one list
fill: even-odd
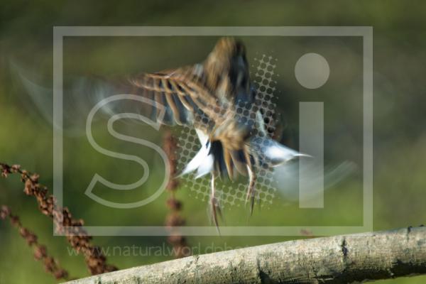
[[(51, 98), (52, 90), (28, 80), (23, 68), (18, 65), (13, 64), (12, 67), (35, 105), (49, 118), (48, 109), (51, 108), (46, 107), (48, 99), (45, 102), (43, 97)], [(293, 188), (297, 187), (293, 185), (298, 183), (298, 168), (286, 162), (309, 156), (281, 145), (266, 131), (271, 117), (256, 99), (246, 48), (234, 38), (219, 39), (212, 52), (199, 64), (143, 73), (119, 82), (83, 77), (67, 92), (69, 95), (65, 99), (69, 98), (75, 104), (72, 110), (82, 112), (84, 108), (92, 106), (92, 99), (97, 103), (112, 94), (135, 94), (151, 103), (132, 103), (131, 107), (151, 121), (168, 126), (193, 127), (200, 140), (200, 150), (187, 163), (181, 175), (195, 173), (195, 178), (210, 175), (209, 208), (217, 227), (217, 215), (221, 213), (215, 193), (217, 178), (233, 180), (238, 175), (248, 177), (246, 201), (249, 201), (251, 213), (258, 198), (256, 180), (262, 169), (281, 165), (273, 171), (274, 179), (279, 180), (278, 190), (287, 196), (294, 195)], [(105, 111), (109, 114), (117, 112), (116, 109), (108, 108)], [(80, 116), (84, 118), (84, 115), (77, 115), (74, 111), (71, 111), (70, 116), (70, 121), (74, 122)], [(266, 121), (269, 121), (268, 124)], [(344, 163), (324, 173), (324, 187), (339, 182), (352, 170), (353, 165)], [(317, 174), (315, 171), (312, 173)], [(313, 176), (312, 182), (315, 182), (312, 173), (309, 175)], [(314, 195), (315, 192), (312, 192)]]

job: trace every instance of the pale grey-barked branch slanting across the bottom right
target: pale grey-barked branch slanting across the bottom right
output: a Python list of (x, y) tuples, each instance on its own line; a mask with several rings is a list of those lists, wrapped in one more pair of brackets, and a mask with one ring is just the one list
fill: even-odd
[(354, 283), (426, 273), (426, 227), (190, 256), (71, 283)]

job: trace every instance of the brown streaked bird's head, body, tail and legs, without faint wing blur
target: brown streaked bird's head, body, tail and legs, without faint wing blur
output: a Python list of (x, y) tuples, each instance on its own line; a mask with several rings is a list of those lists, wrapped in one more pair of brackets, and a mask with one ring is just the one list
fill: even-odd
[[(303, 155), (269, 138), (263, 114), (256, 105), (256, 91), (249, 76), (246, 48), (234, 38), (221, 38), (204, 62), (174, 70), (131, 77), (122, 87), (155, 101), (151, 119), (166, 125), (193, 126), (200, 151), (182, 175), (211, 175), (210, 207), (218, 226), (220, 207), (215, 180), (220, 177), (249, 177), (246, 200), (250, 212), (256, 197), (258, 169), (276, 166)], [(165, 113), (158, 111), (164, 108)], [(242, 109), (249, 109), (242, 115)]]

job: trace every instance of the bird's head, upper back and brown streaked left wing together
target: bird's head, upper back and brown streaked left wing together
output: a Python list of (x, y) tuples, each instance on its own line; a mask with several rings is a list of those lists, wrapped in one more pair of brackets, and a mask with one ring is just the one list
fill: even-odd
[(245, 48), (234, 38), (221, 38), (200, 64), (137, 75), (126, 83), (155, 101), (157, 109), (165, 107), (163, 118), (155, 107), (149, 111), (152, 119), (168, 125), (198, 123), (198, 129), (222, 125), (234, 105), (254, 99)]

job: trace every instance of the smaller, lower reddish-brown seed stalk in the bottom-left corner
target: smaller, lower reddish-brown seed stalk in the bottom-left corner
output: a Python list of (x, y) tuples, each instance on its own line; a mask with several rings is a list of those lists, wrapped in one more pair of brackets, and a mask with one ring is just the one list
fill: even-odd
[(26, 240), (28, 246), (33, 247), (34, 249), (34, 258), (38, 261), (42, 261), (45, 267), (45, 271), (51, 273), (55, 276), (56, 279), (68, 279), (68, 272), (64, 268), (61, 268), (59, 262), (48, 255), (48, 250), (42, 244), (38, 243), (37, 236), (21, 223), (19, 217), (15, 214), (12, 214), (11, 209), (6, 205), (2, 205), (0, 209), (0, 219), (9, 218), (11, 224), (15, 226), (19, 234)]

